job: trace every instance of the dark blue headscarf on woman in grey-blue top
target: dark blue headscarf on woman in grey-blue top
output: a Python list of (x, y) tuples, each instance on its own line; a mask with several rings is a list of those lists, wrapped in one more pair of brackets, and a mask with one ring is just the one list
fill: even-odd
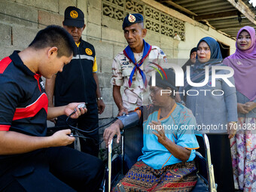
[[(210, 50), (211, 50), (211, 58), (209, 59), (208, 62), (200, 62), (198, 59), (194, 65), (194, 67), (191, 69), (190, 72), (190, 79), (194, 83), (199, 83), (202, 81), (205, 77), (205, 67), (209, 66), (209, 75), (212, 75), (212, 66), (222, 66), (222, 55), (221, 55), (221, 48), (218, 44), (218, 42), (214, 38), (210, 37), (205, 37), (202, 38), (198, 44), (197, 44), (197, 49), (199, 44), (205, 41), (206, 44), (208, 44)], [(197, 55), (198, 58), (198, 55)], [(187, 78), (185, 78), (184, 81), (184, 90), (190, 90), (191, 86), (187, 84)]]

